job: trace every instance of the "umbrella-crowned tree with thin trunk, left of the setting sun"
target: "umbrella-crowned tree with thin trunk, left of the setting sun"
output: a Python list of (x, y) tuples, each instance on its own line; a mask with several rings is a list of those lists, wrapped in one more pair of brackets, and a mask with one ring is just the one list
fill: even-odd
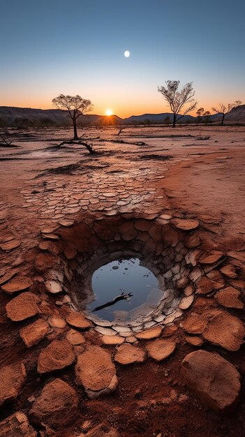
[(80, 115), (87, 114), (91, 111), (93, 105), (90, 100), (82, 98), (81, 96), (64, 96), (60, 94), (58, 97), (53, 98), (52, 103), (56, 108), (60, 110), (66, 110), (68, 117), (73, 121), (74, 140), (78, 140), (77, 136), (77, 119)]

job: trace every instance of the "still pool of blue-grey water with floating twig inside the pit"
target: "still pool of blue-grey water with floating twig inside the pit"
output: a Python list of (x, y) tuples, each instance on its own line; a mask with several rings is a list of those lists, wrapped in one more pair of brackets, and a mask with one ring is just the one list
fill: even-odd
[(139, 307), (144, 307), (145, 302), (152, 299), (159, 302), (163, 295), (156, 276), (140, 265), (138, 258), (115, 260), (103, 265), (94, 272), (91, 287), (95, 300), (88, 305), (89, 311), (110, 321), (120, 313), (127, 320), (133, 316), (135, 309), (139, 311)]

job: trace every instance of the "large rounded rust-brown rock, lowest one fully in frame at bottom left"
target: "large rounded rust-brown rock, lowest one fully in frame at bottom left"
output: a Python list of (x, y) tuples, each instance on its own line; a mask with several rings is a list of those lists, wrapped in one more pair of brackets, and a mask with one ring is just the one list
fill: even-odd
[(74, 421), (78, 397), (75, 390), (57, 378), (45, 385), (29, 412), (31, 422), (58, 427)]

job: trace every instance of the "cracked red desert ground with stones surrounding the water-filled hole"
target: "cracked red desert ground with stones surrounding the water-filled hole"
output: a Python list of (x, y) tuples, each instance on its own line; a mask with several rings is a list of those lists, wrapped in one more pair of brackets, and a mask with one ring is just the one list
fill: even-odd
[[(23, 436), (244, 435), (245, 128), (82, 133), (94, 144), (93, 156), (82, 146), (55, 147), (71, 134), (61, 130), (18, 133), (13, 144), (19, 147), (1, 148), (1, 369), (10, 366), (1, 376), (7, 381), (1, 420), (23, 412), (34, 426), (19, 431)], [(113, 252), (121, 241), (123, 250), (134, 244), (162, 264), (168, 258), (164, 271), (179, 290), (180, 308), (172, 318), (158, 313), (129, 331), (74, 322), (68, 279), (91, 248), (107, 244)], [(49, 276), (54, 267), (66, 281)], [(234, 385), (223, 394), (237, 403), (232, 413), (215, 413), (186, 385), (181, 362), (200, 349), (237, 367), (239, 401), (234, 367)], [(20, 362), (25, 371), (13, 367)], [(218, 408), (226, 412), (225, 403)]]

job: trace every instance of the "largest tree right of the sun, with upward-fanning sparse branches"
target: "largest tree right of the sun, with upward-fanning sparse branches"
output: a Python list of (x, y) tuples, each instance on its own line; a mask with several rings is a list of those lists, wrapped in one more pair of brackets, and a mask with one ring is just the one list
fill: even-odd
[[(174, 114), (172, 127), (175, 128), (176, 122), (188, 114), (188, 112), (193, 111), (197, 107), (198, 102), (193, 99), (195, 91), (193, 90), (192, 82), (185, 84), (179, 91), (179, 80), (167, 80), (166, 84), (167, 87), (158, 87), (158, 91), (163, 94), (163, 98), (170, 105), (170, 109)], [(189, 103), (188, 108), (184, 110), (183, 114), (179, 115), (179, 112), (183, 110), (186, 103)]]

